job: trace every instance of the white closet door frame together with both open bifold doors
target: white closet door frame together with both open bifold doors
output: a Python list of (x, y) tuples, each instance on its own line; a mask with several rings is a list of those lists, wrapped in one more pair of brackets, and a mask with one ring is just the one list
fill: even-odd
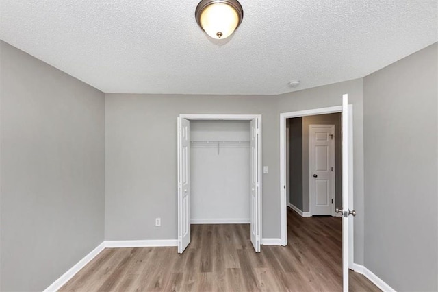
[[(255, 252), (261, 244), (261, 115), (249, 114), (180, 114), (177, 121), (178, 157), (178, 252), (181, 254), (190, 244), (191, 223), (191, 169), (190, 169), (190, 121), (249, 121), (250, 176), (248, 208), (250, 210), (250, 240)], [(203, 141), (207, 142), (207, 141)], [(225, 141), (222, 141), (225, 142)], [(231, 142), (231, 141), (229, 141)], [(237, 141), (233, 141), (237, 143)], [(238, 141), (240, 143), (240, 141)], [(218, 141), (215, 141), (220, 149)]]

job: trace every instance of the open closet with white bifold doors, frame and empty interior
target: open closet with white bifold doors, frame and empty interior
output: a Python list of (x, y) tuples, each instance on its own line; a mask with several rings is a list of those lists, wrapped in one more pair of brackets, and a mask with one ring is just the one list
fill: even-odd
[(260, 115), (178, 117), (179, 253), (190, 244), (191, 224), (249, 224), (242, 230), (260, 251), (260, 126)]

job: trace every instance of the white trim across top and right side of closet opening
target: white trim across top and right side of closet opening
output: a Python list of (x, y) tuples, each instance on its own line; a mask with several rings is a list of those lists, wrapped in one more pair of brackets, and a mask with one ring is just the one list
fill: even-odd
[[(179, 114), (178, 117), (180, 119), (188, 119), (188, 120), (214, 120), (214, 121), (251, 121), (253, 119), (258, 119), (259, 121), (259, 136), (257, 139), (257, 143), (259, 145), (259, 153), (258, 153), (258, 181), (259, 181), (259, 217), (257, 218), (257, 223), (259, 225), (259, 244), (262, 244), (262, 234), (263, 234), (263, 220), (262, 220), (262, 211), (263, 211), (263, 182), (262, 182), (262, 171), (263, 171), (263, 163), (261, 162), (261, 154), (263, 153), (262, 147), (262, 119), (261, 114)], [(178, 218), (179, 220), (179, 218)]]

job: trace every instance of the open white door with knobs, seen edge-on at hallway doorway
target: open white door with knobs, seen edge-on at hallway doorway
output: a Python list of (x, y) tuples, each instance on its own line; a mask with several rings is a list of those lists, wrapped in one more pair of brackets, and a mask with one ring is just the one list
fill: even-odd
[[(352, 119), (348, 110), (348, 95), (342, 95), (342, 279), (343, 291), (348, 291), (348, 266), (350, 265), (349, 257), (352, 256), (349, 251), (352, 244), (352, 231), (349, 225), (352, 224), (350, 215), (355, 216), (356, 212), (352, 210), (352, 149), (350, 149), (350, 141), (352, 141)], [(350, 222), (349, 222), (350, 221)], [(352, 226), (351, 226), (352, 227)]]

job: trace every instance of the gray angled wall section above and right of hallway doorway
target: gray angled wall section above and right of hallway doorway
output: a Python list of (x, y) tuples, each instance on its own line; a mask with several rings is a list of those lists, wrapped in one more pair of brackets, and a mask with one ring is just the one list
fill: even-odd
[(279, 96), (279, 112), (340, 106), (348, 93), (353, 106), (353, 184), (355, 217), (355, 263), (363, 265), (363, 80), (349, 80)]

